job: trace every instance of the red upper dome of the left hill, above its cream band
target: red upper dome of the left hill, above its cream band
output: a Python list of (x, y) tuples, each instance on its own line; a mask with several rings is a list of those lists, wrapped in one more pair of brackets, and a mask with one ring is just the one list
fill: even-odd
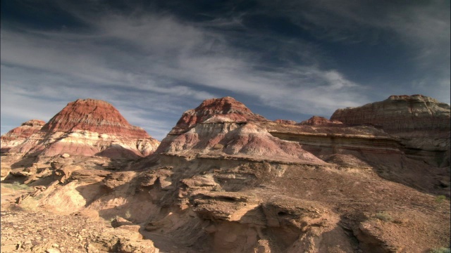
[(144, 129), (132, 126), (110, 103), (92, 98), (68, 103), (42, 127), (43, 131), (87, 130), (132, 138), (149, 138)]

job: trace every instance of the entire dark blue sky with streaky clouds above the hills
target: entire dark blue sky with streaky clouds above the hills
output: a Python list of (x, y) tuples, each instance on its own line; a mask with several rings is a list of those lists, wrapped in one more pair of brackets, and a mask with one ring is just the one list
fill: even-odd
[(78, 98), (161, 140), (232, 96), (267, 119), (423, 94), (450, 103), (450, 1), (1, 1), (1, 134)]

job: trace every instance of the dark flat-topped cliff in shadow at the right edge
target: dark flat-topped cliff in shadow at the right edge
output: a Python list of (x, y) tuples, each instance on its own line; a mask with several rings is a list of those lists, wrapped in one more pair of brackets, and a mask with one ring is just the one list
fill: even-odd
[(427, 96), (390, 96), (358, 108), (336, 110), (331, 120), (373, 124), (400, 138), (411, 158), (450, 166), (450, 105)]

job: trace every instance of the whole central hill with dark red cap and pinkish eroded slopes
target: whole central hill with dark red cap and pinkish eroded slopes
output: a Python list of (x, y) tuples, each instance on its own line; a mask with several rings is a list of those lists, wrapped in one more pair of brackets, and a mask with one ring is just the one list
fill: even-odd
[(270, 121), (233, 98), (204, 100), (183, 113), (156, 153), (323, 164), (298, 143), (271, 136), (262, 122)]

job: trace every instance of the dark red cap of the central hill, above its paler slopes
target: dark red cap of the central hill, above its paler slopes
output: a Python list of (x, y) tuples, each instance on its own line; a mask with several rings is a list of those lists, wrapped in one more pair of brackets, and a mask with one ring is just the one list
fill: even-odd
[(235, 100), (235, 98), (224, 97), (204, 100), (197, 108), (187, 110), (175, 127), (190, 127), (215, 116), (221, 116), (221, 119), (227, 118), (229, 122), (267, 120), (261, 115), (253, 113), (246, 105)]

